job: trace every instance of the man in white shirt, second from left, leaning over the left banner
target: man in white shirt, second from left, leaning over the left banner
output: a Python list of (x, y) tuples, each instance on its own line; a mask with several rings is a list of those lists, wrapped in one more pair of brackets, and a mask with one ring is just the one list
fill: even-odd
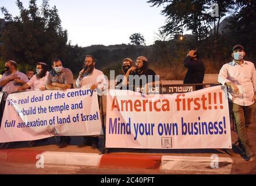
[(48, 77), (48, 66), (44, 62), (37, 63), (37, 74), (35, 74), (28, 83), (22, 87), (17, 88), (17, 91), (27, 90), (33, 88), (34, 91), (46, 90), (46, 82)]

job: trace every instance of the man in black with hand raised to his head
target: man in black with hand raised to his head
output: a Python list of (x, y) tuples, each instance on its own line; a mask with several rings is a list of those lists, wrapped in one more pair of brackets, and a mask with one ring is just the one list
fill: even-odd
[[(201, 84), (204, 81), (205, 66), (197, 51), (189, 51), (184, 60), (184, 66), (188, 69), (183, 81), (184, 84)], [(195, 90), (202, 88), (202, 86), (195, 86)]]

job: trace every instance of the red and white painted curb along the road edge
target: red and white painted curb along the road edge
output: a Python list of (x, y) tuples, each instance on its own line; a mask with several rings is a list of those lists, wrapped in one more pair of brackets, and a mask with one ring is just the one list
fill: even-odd
[[(37, 163), (43, 160), (44, 164), (65, 166), (94, 166), (100, 168), (116, 169), (157, 169), (179, 171), (212, 171), (230, 173), (233, 160), (231, 158), (218, 158), (218, 169), (212, 169), (211, 157), (195, 156), (162, 156), (110, 153), (98, 155), (97, 153), (76, 152), (47, 152), (0, 150), (0, 163)], [(217, 167), (215, 167), (217, 168)]]

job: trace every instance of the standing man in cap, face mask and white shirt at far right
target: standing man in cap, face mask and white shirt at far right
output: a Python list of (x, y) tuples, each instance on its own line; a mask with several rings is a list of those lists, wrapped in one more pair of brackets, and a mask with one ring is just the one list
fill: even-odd
[(223, 65), (219, 72), (219, 83), (228, 87), (229, 101), (232, 103), (236, 121), (239, 146), (246, 152), (247, 158), (255, 160), (247, 126), (253, 119), (253, 108), (256, 101), (256, 71), (254, 63), (244, 60), (246, 52), (242, 45), (233, 47), (233, 61)]

